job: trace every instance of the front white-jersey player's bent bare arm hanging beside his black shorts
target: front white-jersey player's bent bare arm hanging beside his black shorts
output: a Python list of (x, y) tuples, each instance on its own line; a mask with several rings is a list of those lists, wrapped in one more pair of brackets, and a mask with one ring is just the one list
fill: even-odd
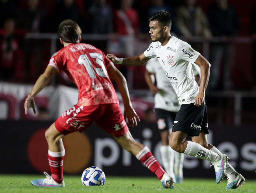
[(201, 82), (200, 82), (199, 93), (195, 98), (194, 105), (200, 106), (205, 104), (204, 102), (205, 90), (209, 82), (211, 64), (202, 55), (199, 55), (199, 57), (195, 61), (195, 64), (197, 64), (201, 68)]

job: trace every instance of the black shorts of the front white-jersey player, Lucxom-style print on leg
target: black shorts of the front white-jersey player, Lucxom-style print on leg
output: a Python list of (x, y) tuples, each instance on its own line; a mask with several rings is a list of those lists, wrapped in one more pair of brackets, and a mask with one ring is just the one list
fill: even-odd
[(188, 136), (199, 136), (200, 132), (209, 133), (207, 106), (195, 106), (192, 104), (183, 104), (174, 120), (174, 131), (182, 131)]

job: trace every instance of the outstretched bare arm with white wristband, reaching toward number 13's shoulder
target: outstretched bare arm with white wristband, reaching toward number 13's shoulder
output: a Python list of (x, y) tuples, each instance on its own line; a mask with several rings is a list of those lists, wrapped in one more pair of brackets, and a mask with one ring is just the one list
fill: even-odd
[(118, 58), (113, 54), (107, 54), (106, 57), (111, 59), (111, 61), (115, 64), (123, 64), (128, 66), (142, 66), (151, 59), (146, 57), (144, 53), (139, 56), (132, 56), (128, 58)]

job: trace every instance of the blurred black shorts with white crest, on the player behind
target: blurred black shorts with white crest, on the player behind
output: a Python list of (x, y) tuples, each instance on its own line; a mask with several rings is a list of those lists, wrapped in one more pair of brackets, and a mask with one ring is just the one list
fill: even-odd
[(166, 111), (161, 108), (156, 108), (155, 110), (159, 131), (162, 132), (171, 129), (177, 112)]

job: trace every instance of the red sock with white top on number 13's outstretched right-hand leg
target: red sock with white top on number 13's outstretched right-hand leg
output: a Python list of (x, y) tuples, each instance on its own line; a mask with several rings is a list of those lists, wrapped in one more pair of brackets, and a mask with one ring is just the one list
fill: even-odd
[(154, 155), (151, 153), (148, 147), (144, 147), (137, 155), (136, 158), (139, 159), (145, 166), (147, 166), (152, 172), (154, 172), (158, 179), (161, 180), (165, 170), (156, 160)]

